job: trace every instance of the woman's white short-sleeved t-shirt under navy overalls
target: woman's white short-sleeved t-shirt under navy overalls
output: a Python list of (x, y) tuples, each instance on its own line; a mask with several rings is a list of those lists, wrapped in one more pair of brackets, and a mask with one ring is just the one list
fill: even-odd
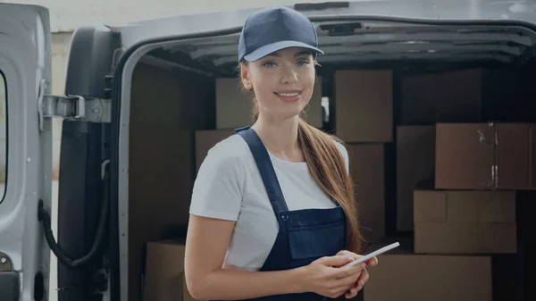
[[(338, 142), (348, 171), (348, 151)], [(270, 154), (289, 210), (332, 208), (306, 163), (291, 163)], [(223, 268), (257, 271), (272, 250), (279, 225), (263, 180), (246, 141), (239, 135), (211, 148), (193, 189), (191, 214), (236, 221)]]

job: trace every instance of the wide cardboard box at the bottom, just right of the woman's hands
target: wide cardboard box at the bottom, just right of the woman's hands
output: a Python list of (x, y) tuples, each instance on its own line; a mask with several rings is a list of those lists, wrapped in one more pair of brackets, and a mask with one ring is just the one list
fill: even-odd
[(489, 256), (380, 255), (364, 301), (491, 301)]

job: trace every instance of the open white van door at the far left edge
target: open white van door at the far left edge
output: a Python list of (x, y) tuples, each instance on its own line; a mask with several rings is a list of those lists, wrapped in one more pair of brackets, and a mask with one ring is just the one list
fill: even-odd
[(52, 196), (48, 11), (0, 4), (0, 300), (44, 300), (50, 252), (38, 219)]

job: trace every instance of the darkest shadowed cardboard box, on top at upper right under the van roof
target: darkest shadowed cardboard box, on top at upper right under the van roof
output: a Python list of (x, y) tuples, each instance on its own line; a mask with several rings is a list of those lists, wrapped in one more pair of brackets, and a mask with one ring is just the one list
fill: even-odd
[(520, 121), (511, 101), (521, 97), (520, 90), (515, 68), (404, 74), (400, 80), (400, 123)]

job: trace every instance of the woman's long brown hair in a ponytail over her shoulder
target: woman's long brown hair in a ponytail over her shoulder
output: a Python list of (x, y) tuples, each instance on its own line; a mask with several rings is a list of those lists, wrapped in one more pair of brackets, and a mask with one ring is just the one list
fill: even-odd
[[(240, 68), (241, 66), (239, 66)], [(248, 91), (242, 85), (243, 90)], [(259, 116), (259, 109), (253, 96), (253, 121)], [(297, 140), (309, 171), (317, 185), (322, 188), (333, 200), (336, 200), (346, 214), (347, 237), (346, 247), (348, 251), (359, 254), (362, 250), (364, 238), (359, 230), (357, 219), (357, 205), (354, 195), (354, 182), (348, 175), (344, 159), (339, 148), (335, 145), (337, 141), (344, 143), (336, 136), (327, 134), (309, 125), (305, 119), (305, 111), (299, 115), (297, 128)]]

